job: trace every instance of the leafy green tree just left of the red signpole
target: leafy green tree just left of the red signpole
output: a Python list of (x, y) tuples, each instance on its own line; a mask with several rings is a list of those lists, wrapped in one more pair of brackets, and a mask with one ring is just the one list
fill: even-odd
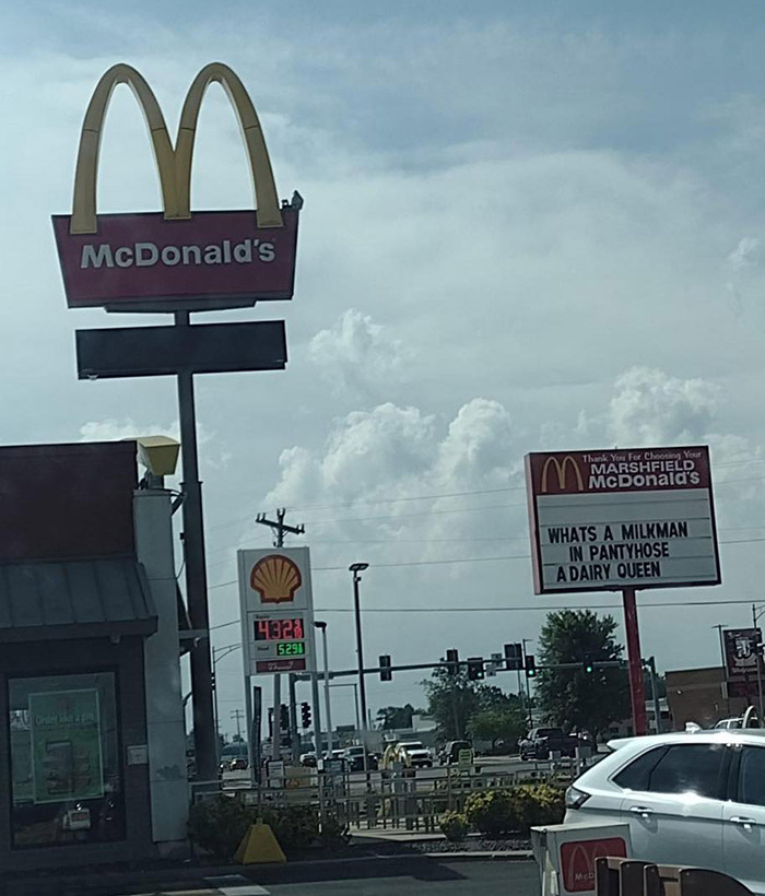
[(546, 720), (567, 731), (589, 732), (593, 740), (611, 722), (629, 716), (625, 669), (598, 669), (598, 661), (622, 660), (623, 647), (614, 638), (616, 622), (591, 610), (561, 610), (548, 614), (539, 638), (540, 664), (582, 663), (586, 655), (596, 669), (540, 669), (537, 697)]

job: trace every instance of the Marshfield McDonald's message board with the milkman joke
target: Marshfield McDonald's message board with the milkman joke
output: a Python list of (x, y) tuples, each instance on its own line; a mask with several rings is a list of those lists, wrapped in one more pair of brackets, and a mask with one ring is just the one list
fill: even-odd
[(709, 450), (526, 457), (534, 591), (719, 585)]

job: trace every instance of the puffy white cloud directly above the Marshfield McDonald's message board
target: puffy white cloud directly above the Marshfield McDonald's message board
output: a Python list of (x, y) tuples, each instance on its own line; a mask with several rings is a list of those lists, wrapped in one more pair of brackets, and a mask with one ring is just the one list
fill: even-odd
[(720, 392), (704, 379), (679, 379), (663, 370), (633, 367), (615, 382), (608, 429), (623, 447), (698, 441), (709, 431)]

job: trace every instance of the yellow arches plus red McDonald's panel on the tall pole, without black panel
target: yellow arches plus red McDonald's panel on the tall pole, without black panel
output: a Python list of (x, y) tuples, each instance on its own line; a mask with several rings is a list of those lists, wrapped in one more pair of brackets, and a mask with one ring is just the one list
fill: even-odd
[[(210, 84), (220, 83), (238, 118), (255, 210), (191, 212), (197, 122)], [(96, 187), (104, 120), (115, 89), (131, 87), (156, 162), (162, 212), (98, 214)], [(175, 143), (157, 99), (132, 67), (117, 64), (98, 81), (80, 137), (71, 215), (54, 215), (69, 307), (121, 310), (212, 310), (292, 298), (297, 193), (280, 204), (266, 140), (244, 84), (213, 62), (186, 95)]]

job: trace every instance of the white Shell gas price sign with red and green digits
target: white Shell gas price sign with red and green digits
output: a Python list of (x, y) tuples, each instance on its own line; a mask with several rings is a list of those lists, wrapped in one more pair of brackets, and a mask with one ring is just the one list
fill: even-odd
[(307, 547), (237, 552), (245, 674), (315, 669)]

